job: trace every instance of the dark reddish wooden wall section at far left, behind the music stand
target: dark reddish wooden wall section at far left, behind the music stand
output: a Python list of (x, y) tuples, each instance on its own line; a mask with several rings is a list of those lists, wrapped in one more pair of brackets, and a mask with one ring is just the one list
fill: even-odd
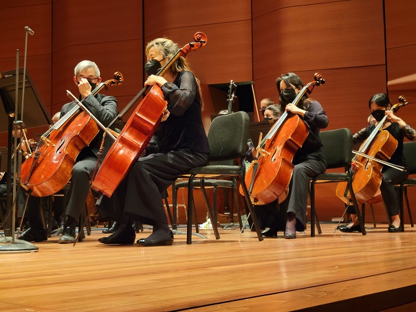
[[(0, 71), (16, 69), (16, 50), (19, 49), (19, 67), (24, 66), (25, 26), (34, 31), (28, 34), (26, 66), (36, 89), (47, 109), (51, 106), (51, 19), (52, 1), (1, 1)], [(19, 99), (21, 103), (21, 99)], [(19, 104), (20, 105), (20, 104)], [(26, 107), (24, 113), (28, 113)], [(23, 116), (24, 121), (24, 116)], [(32, 135), (38, 131), (29, 131)], [(0, 146), (7, 146), (7, 133), (0, 133)]]

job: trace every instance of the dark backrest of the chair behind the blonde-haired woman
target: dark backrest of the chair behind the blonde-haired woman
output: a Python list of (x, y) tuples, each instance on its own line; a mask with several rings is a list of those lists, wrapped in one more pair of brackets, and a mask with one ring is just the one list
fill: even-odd
[(245, 111), (221, 115), (212, 120), (208, 131), (209, 161), (244, 157), (247, 152), (248, 123)]

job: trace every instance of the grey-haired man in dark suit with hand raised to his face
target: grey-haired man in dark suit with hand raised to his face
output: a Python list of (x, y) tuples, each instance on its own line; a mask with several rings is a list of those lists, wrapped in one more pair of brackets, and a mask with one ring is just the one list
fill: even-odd
[[(96, 63), (91, 62), (91, 60), (83, 60), (76, 65), (74, 74), (74, 83), (78, 87), (80, 93), (79, 99), (83, 100), (85, 107), (87, 107), (98, 121), (104, 124), (104, 126), (107, 126), (118, 115), (117, 101), (113, 96), (105, 96), (100, 93), (96, 93), (95, 96), (91, 94), (91, 91), (96, 85), (100, 84), (102, 81), (100, 69), (98, 69)], [(65, 104), (61, 109), (61, 118), (65, 113), (68, 113), (77, 105), (76, 102)], [(75, 227), (78, 224), (78, 219), (82, 210), (85, 209), (85, 202), (87, 201), (89, 193), (89, 180), (96, 168), (101, 140), (102, 131), (96, 135), (89, 146), (80, 151), (76, 159), (76, 164), (74, 165), (74, 168), (72, 168), (71, 188), (69, 190), (68, 203), (65, 210), (66, 221), (63, 228), (63, 234), (59, 238), (59, 243), (74, 243), (75, 241)], [(104, 155), (111, 144), (111, 140), (105, 141)], [(19, 236), (19, 239), (23, 239), (24, 241), (47, 240), (46, 231), (41, 222), (39, 200), (39, 197), (30, 196), (26, 212), (30, 227)]]

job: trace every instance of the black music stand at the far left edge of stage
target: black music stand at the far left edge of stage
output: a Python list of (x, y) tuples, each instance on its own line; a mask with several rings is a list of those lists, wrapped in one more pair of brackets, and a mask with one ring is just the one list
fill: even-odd
[[(47, 126), (52, 124), (52, 118), (50, 113), (45, 109), (45, 105), (39, 96), (32, 78), (28, 71), (25, 71), (25, 77), (23, 77), (23, 68), (19, 69), (19, 84), (18, 84), (18, 99), (22, 98), (23, 93), (23, 78), (25, 79), (25, 98), (23, 106), (23, 116), (21, 111), (18, 110), (18, 121), (15, 121), (15, 107), (16, 102), (16, 71), (4, 71), (0, 73), (0, 132), (8, 132), (8, 167), (7, 167), (7, 200), (6, 200), (6, 215), (10, 216), (12, 213), (12, 130), (13, 127), (23, 129), (32, 128), (35, 126)], [(23, 118), (25, 122), (23, 123)], [(20, 172), (17, 173), (20, 175)], [(16, 178), (16, 177), (14, 177)], [(17, 193), (17, 192), (16, 192)], [(17, 194), (15, 194), (17, 197)], [(14, 216), (12, 216), (14, 218)], [(3, 225), (4, 229), (12, 229), (12, 218), (7, 219), (6, 225)], [(10, 236), (13, 235), (14, 229), (10, 230)], [(5, 234), (7, 235), (5, 230)], [(0, 238), (0, 243), (6, 243), (0, 245), (0, 252), (26, 252), (39, 249), (32, 243), (26, 241), (15, 240), (16, 243), (8, 244), (12, 241), (12, 238), (5, 236)]]

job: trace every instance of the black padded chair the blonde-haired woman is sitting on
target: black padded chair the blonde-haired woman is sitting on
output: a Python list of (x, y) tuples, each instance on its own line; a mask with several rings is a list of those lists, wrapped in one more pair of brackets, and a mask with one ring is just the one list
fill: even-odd
[[(188, 177), (188, 221), (187, 221), (187, 233), (186, 243), (192, 243), (192, 215), (193, 215), (193, 190), (195, 179), (200, 179), (200, 187), (205, 198), (206, 189), (204, 186), (205, 179), (229, 177), (237, 178), (241, 181), (243, 188), (245, 203), (252, 216), (252, 221), (256, 229), (256, 234), (259, 241), (263, 241), (263, 236), (260, 232), (259, 225), (257, 223), (256, 214), (250, 201), (247, 187), (245, 186), (245, 165), (244, 158), (247, 152), (247, 139), (248, 139), (248, 123), (250, 118), (248, 113), (239, 111), (237, 113), (230, 113), (228, 115), (221, 115), (212, 120), (210, 130), (208, 131), (208, 142), (210, 144), (210, 155), (208, 161), (225, 161), (234, 159), (239, 161), (239, 165), (210, 165), (193, 168), (186, 172), (181, 178)], [(209, 203), (208, 203), (209, 205)], [(212, 209), (208, 207), (208, 210), (213, 215)], [(219, 236), (217, 227), (213, 227), (215, 235)]]

